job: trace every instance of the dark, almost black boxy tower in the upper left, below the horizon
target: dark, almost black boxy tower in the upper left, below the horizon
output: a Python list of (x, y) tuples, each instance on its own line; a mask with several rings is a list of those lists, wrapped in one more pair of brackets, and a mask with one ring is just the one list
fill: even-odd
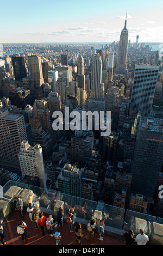
[(21, 81), (27, 76), (26, 63), (24, 57), (12, 57), (15, 80)]

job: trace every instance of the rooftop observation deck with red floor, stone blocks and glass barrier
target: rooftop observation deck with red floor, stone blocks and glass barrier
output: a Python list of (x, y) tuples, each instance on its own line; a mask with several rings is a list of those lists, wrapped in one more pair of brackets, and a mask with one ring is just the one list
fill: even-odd
[[(100, 186), (100, 184), (99, 184)], [(104, 245), (126, 245), (123, 233), (132, 229), (134, 234), (139, 234), (139, 229), (143, 228), (149, 237), (149, 245), (162, 245), (163, 219), (155, 216), (142, 214), (140, 212), (126, 210), (117, 206), (106, 205), (103, 201), (92, 201), (89, 199), (71, 196), (54, 190), (45, 190), (33, 185), (21, 182), (8, 181), (0, 190), (0, 224), (4, 227), (4, 237), (7, 245), (55, 245), (54, 237), (49, 236), (45, 227), (45, 236), (41, 235), (40, 229), (35, 229), (35, 223), (30, 221), (27, 212), (29, 196), (33, 198), (35, 204), (39, 204), (40, 210), (48, 217), (52, 214), (57, 220), (57, 210), (60, 206), (64, 209), (64, 227), (57, 227), (55, 231), (61, 233), (61, 245), (76, 245), (74, 233), (70, 233), (66, 216), (68, 209), (74, 208), (75, 223), (82, 223), (84, 236), (82, 243), (85, 246)], [(28, 225), (29, 240), (24, 243), (21, 236), (17, 234), (17, 225), (21, 221), (20, 212), (15, 211), (17, 197), (23, 200), (24, 222)], [(106, 215), (109, 218), (105, 221), (104, 240), (98, 240), (98, 231), (95, 232), (93, 240), (87, 241), (86, 226), (92, 218), (97, 218), (98, 222)]]

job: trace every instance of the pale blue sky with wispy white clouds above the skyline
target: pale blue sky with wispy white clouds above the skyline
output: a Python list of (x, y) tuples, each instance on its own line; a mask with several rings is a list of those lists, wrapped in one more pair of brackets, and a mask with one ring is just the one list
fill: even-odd
[(131, 42), (163, 42), (162, 9), (162, 0), (3, 1), (0, 42), (118, 41), (126, 10)]

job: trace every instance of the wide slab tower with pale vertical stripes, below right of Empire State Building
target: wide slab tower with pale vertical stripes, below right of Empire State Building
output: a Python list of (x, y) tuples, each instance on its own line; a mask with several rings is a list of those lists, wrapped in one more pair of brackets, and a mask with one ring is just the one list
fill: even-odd
[(148, 116), (152, 109), (159, 66), (136, 65), (131, 92), (130, 114), (137, 115), (142, 109), (142, 115)]

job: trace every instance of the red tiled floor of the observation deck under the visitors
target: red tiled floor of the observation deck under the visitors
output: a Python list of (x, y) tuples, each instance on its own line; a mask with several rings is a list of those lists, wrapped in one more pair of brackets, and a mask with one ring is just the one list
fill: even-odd
[[(52, 236), (49, 236), (47, 233), (47, 230), (45, 228), (45, 236), (41, 235), (41, 229), (35, 229), (35, 224), (34, 222), (31, 222), (29, 220), (28, 213), (25, 212), (24, 214), (24, 222), (28, 225), (29, 231), (28, 231), (28, 237), (29, 240), (24, 243), (21, 239), (21, 235), (17, 234), (17, 225), (18, 222), (21, 221), (20, 218), (20, 213), (19, 212), (14, 212), (14, 215), (12, 215), (10, 221), (5, 225), (4, 227), (4, 237), (5, 237), (5, 242), (6, 245), (55, 245), (55, 239)], [(69, 246), (74, 246), (77, 245), (75, 242), (75, 235), (74, 233), (70, 233), (68, 229), (68, 225), (64, 223), (64, 226), (57, 227), (55, 231), (59, 231), (61, 233), (61, 240), (60, 243), (61, 245), (69, 245)], [(98, 240), (98, 234), (95, 233), (94, 239), (90, 239), (90, 241), (87, 241), (85, 238), (85, 235), (87, 233), (86, 230), (84, 231), (84, 236), (81, 239), (81, 243), (83, 245), (91, 245), (91, 246), (104, 246), (104, 245), (126, 245), (125, 242), (114, 239), (109, 236), (104, 236), (103, 241)]]

